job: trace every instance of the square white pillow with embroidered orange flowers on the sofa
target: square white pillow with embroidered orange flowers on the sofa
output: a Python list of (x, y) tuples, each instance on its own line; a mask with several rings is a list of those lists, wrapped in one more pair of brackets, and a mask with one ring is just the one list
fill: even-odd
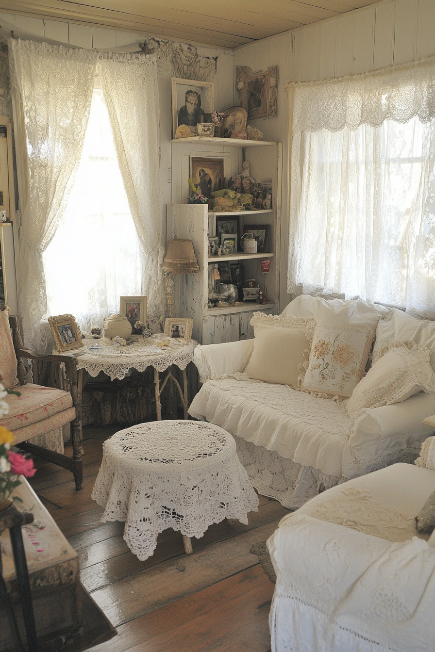
[(363, 376), (373, 331), (318, 323), (303, 381), (309, 391), (350, 396)]

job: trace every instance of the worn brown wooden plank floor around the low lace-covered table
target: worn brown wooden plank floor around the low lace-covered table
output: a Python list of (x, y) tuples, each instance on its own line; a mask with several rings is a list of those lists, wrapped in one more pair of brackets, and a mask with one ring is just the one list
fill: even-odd
[(123, 540), (123, 523), (100, 522), (91, 499), (112, 428), (83, 430), (83, 490), (69, 471), (35, 459), (31, 479), (50, 514), (80, 557), (82, 584), (117, 629), (93, 652), (268, 652), (267, 618), (274, 585), (249, 552), (265, 541), (288, 513), (260, 496), (249, 525), (225, 520), (192, 539), (186, 555), (179, 532), (162, 532), (155, 554), (139, 561)]

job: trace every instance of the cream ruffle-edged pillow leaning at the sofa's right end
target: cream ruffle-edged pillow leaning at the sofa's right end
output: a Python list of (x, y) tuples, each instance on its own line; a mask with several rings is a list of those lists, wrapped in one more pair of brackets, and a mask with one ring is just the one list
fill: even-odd
[(401, 403), (417, 392), (435, 391), (428, 349), (408, 346), (398, 344), (374, 363), (348, 400), (346, 411), (350, 417), (356, 417), (365, 408)]

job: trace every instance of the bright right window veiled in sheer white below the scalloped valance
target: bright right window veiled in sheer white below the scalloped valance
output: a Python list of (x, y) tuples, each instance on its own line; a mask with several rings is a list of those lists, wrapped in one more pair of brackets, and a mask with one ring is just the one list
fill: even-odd
[(295, 281), (304, 292), (406, 306), (417, 278), (434, 295), (433, 126), (413, 117), (301, 136)]

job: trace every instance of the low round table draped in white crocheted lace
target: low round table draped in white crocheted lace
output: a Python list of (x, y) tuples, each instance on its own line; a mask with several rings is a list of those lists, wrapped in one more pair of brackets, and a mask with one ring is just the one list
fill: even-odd
[(168, 527), (199, 539), (228, 519), (248, 523), (258, 496), (237, 457), (233, 437), (204, 421), (154, 421), (104, 442), (92, 497), (104, 507), (102, 522), (125, 521), (124, 539), (141, 561)]

